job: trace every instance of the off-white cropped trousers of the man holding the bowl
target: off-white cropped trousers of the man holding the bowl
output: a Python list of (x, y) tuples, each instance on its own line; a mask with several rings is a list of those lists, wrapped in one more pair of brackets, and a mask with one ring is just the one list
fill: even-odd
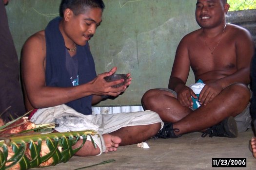
[[(105, 144), (102, 137), (104, 134), (117, 131), (122, 127), (149, 125), (159, 122), (161, 123), (161, 128), (163, 127), (163, 122), (158, 114), (149, 110), (110, 115), (83, 115), (65, 104), (38, 109), (30, 121), (35, 124), (58, 123), (59, 127), (55, 128), (58, 132), (97, 131), (100, 137), (92, 137), (100, 148), (99, 154), (105, 152)], [(87, 140), (91, 140), (90, 137), (88, 137)]]

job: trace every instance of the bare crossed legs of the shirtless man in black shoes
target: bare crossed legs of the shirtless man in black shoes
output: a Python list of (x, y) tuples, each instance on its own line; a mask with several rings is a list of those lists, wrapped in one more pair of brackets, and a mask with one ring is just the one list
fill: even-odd
[(144, 109), (157, 112), (164, 122), (172, 122), (173, 128), (179, 129), (175, 134), (181, 135), (204, 131), (227, 117), (235, 117), (246, 108), (250, 96), (246, 85), (229, 85), (212, 102), (193, 111), (183, 107), (172, 93), (152, 89), (144, 94), (142, 104)]

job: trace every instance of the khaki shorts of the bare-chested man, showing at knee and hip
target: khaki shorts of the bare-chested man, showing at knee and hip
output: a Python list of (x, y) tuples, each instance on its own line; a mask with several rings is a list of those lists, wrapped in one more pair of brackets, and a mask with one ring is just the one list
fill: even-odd
[[(157, 88), (158, 90), (164, 90), (164, 91), (169, 91), (171, 92), (176, 98), (177, 98), (177, 93), (169, 88)], [(247, 129), (251, 128), (251, 115), (250, 115), (250, 104), (247, 105), (247, 107), (235, 117), (236, 120), (236, 126), (238, 132), (244, 132)], [(192, 109), (193, 110), (193, 109)]]

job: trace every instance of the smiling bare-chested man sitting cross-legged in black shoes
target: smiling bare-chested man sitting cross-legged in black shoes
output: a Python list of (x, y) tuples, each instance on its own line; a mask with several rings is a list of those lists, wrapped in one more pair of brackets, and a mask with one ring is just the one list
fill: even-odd
[[(226, 0), (197, 0), (196, 20), (200, 29), (180, 41), (169, 89), (151, 89), (142, 97), (144, 109), (155, 111), (165, 123), (158, 137), (178, 137), (191, 132), (203, 136), (236, 137), (233, 117), (250, 101), (250, 62), (254, 53), (251, 34), (227, 24)], [(186, 86), (190, 67), (196, 82), (205, 86), (197, 98)], [(192, 109), (192, 98), (201, 106)]]

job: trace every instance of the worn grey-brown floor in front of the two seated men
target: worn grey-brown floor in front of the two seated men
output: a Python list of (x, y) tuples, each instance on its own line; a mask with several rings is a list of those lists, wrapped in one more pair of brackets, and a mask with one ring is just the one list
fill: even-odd
[[(150, 149), (137, 145), (122, 146), (117, 152), (100, 156), (73, 156), (67, 163), (42, 170), (75, 170), (102, 161), (114, 162), (85, 170), (256, 170), (256, 159), (249, 151), (252, 130), (239, 133), (237, 138), (201, 137), (201, 133), (183, 135), (176, 139), (150, 139)], [(212, 158), (246, 158), (246, 168), (212, 168)]]

